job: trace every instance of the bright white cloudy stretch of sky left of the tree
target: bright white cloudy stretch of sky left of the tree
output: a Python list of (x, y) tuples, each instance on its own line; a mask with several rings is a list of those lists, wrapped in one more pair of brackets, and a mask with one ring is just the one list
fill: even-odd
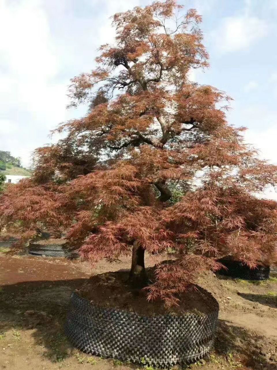
[(110, 16), (139, 4), (96, 2), (0, 0), (0, 149), (25, 166), (50, 129), (83, 113), (66, 110), (69, 78), (92, 69), (96, 49), (113, 40)]

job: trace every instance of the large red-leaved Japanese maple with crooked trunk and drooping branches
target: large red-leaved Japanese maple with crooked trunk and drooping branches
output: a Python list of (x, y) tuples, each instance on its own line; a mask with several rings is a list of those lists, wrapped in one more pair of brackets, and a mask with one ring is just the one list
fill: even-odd
[[(1, 198), (1, 224), (23, 237), (38, 225), (69, 229), (83, 258), (132, 255), (130, 280), (147, 281), (144, 253), (174, 250), (157, 266), (148, 298), (170, 306), (199, 272), (232, 255), (276, 262), (277, 203), (257, 192), (277, 183), (226, 121), (230, 98), (189, 81), (208, 66), (195, 10), (175, 0), (113, 16), (116, 44), (72, 79), (71, 106), (88, 114), (59, 125), (66, 137), (34, 153), (34, 174)], [(172, 189), (184, 194), (172, 201)]]

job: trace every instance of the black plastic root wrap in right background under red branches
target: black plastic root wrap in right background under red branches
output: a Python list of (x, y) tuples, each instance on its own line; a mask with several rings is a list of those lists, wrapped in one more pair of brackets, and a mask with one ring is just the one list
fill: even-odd
[(254, 269), (250, 269), (249, 266), (245, 265), (240, 261), (235, 261), (231, 258), (221, 258), (218, 262), (226, 266), (227, 269), (220, 269), (216, 273), (220, 275), (230, 276), (237, 279), (243, 280), (266, 280), (269, 279), (269, 266), (257, 266)]

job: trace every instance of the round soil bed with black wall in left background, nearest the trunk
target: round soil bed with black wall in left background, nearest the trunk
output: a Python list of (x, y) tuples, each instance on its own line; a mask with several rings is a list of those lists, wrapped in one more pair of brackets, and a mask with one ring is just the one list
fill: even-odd
[(29, 253), (35, 256), (77, 258), (78, 252), (64, 239), (40, 240), (29, 244)]

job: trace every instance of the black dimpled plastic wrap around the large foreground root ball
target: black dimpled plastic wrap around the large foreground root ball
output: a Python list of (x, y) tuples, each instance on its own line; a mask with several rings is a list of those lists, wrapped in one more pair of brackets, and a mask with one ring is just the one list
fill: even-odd
[(158, 367), (186, 364), (205, 356), (213, 345), (219, 305), (205, 289), (209, 313), (142, 316), (104, 308), (73, 292), (65, 334), (78, 349), (105, 358)]

